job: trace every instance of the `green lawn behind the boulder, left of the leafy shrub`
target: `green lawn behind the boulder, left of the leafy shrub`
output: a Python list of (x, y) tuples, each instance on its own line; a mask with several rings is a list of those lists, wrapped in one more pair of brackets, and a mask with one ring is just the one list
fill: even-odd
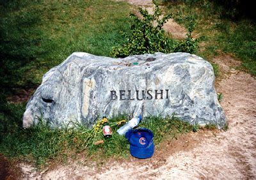
[(72, 52), (109, 56), (123, 41), (119, 32), (129, 31), (127, 3), (9, 1), (0, 12), (3, 88), (40, 84)]

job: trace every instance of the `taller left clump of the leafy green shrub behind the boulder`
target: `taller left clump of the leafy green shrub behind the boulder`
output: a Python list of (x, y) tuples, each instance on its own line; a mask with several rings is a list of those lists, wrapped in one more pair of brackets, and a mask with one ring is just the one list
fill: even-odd
[[(147, 10), (139, 8), (143, 17), (140, 19), (136, 15), (131, 14), (131, 34), (125, 33), (127, 42), (121, 47), (113, 47), (111, 56), (126, 57), (134, 54), (152, 54), (154, 52), (172, 52), (174, 41), (164, 34), (163, 25), (172, 17), (168, 14), (159, 19), (161, 10), (155, 4), (155, 11), (150, 15)], [(154, 24), (154, 22), (156, 24)]]

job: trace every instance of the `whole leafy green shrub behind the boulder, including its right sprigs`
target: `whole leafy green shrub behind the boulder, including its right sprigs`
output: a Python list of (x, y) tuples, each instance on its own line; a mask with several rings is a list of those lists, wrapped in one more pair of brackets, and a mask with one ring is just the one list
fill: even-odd
[(147, 10), (139, 8), (142, 19), (131, 14), (131, 33), (124, 33), (126, 41), (119, 47), (113, 47), (111, 56), (126, 57), (134, 54), (154, 54), (155, 52), (188, 52), (195, 53), (201, 38), (192, 38), (192, 32), (196, 26), (194, 16), (188, 16), (182, 20), (188, 29), (187, 37), (177, 41), (166, 36), (163, 30), (164, 23), (172, 17), (172, 14), (162, 15), (159, 6), (155, 4), (155, 11), (150, 15)]

